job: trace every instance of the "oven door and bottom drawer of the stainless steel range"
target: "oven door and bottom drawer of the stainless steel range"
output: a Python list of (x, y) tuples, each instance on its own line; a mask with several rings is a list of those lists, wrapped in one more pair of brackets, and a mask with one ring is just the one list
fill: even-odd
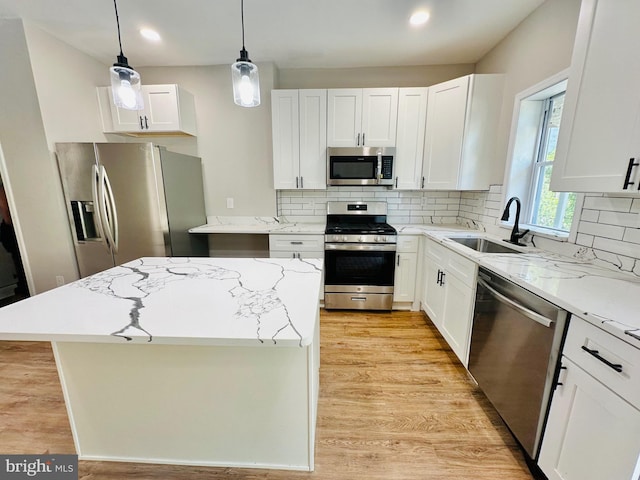
[(391, 310), (395, 244), (325, 244), (325, 308)]

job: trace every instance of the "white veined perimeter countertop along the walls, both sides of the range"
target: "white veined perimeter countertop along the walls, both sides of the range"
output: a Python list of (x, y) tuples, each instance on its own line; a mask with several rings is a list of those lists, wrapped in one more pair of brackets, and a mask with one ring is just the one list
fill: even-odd
[[(502, 238), (458, 225), (391, 223), (399, 234), (426, 235), (640, 348), (640, 338), (636, 338), (640, 337), (640, 278), (533, 247), (515, 255), (479, 253), (449, 237), (484, 236), (498, 242)], [(324, 223), (287, 222), (276, 217), (215, 217), (190, 232), (323, 234), (324, 228)]]

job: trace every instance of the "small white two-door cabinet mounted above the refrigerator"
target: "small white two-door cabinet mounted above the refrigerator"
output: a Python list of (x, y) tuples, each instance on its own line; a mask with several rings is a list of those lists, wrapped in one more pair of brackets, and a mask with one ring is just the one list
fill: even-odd
[(178, 85), (143, 85), (144, 110), (125, 110), (112, 101), (110, 87), (98, 87), (105, 133), (191, 135), (196, 131), (193, 95)]

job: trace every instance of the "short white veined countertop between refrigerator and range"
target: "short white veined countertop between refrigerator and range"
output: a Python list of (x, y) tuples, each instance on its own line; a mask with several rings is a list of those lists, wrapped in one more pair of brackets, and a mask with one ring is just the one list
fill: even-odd
[(289, 222), (278, 217), (213, 217), (189, 233), (300, 233), (324, 235), (325, 223)]

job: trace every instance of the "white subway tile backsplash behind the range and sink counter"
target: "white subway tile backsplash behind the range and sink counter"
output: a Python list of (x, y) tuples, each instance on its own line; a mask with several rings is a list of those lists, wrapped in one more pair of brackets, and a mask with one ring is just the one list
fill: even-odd
[[(394, 224), (453, 224), (504, 235), (502, 185), (488, 191), (398, 191), (385, 187), (279, 190), (278, 215), (324, 221), (327, 201), (386, 201)], [(640, 276), (640, 197), (586, 194), (573, 242), (534, 237), (536, 246)]]

